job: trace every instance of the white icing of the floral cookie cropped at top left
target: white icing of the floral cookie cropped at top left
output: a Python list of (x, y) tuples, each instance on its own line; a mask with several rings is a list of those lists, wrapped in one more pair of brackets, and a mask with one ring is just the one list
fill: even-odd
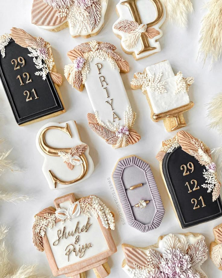
[[(104, 24), (104, 16), (105, 16), (105, 13), (106, 13), (106, 9), (107, 9), (107, 5), (108, 5), (108, 0), (100, 0), (100, 4), (101, 4), (101, 17), (100, 17), (100, 22), (99, 24), (97, 25), (96, 28), (93, 29), (93, 31), (90, 31), (90, 28), (89, 26), (87, 25), (86, 26), (86, 30), (82, 29), (81, 32), (78, 31), (78, 24), (71, 24), (71, 19), (69, 18), (69, 16), (66, 17), (66, 20), (62, 23), (64, 24), (65, 22), (68, 22), (69, 24), (69, 32), (71, 34), (71, 36), (75, 37), (75, 36), (87, 36), (89, 34), (95, 34), (97, 33), (100, 28), (103, 26)], [(74, 6), (74, 5), (73, 5)], [(72, 6), (72, 7), (73, 7)], [(75, 8), (75, 7), (74, 7)], [(55, 26), (44, 26), (44, 25), (38, 25), (38, 27), (40, 28), (43, 28), (45, 30), (53, 30), (53, 29), (56, 29), (58, 28), (59, 26), (61, 26), (62, 24), (59, 24), (59, 25), (55, 25)]]

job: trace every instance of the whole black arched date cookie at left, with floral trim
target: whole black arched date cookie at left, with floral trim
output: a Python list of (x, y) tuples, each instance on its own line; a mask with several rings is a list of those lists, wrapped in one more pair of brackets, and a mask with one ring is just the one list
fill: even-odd
[[(0, 79), (19, 125), (65, 112), (52, 49), (42, 37), (13, 27), (0, 36)], [(57, 86), (58, 85), (58, 86)]]

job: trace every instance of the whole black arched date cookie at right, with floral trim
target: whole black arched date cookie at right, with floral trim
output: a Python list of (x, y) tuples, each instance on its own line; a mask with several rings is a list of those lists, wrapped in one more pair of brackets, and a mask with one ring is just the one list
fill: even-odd
[(163, 141), (156, 158), (182, 228), (222, 216), (221, 184), (206, 144), (179, 131)]

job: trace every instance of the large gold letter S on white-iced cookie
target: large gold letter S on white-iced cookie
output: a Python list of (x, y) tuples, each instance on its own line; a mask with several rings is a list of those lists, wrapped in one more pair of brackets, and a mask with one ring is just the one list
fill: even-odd
[[(69, 153), (69, 151), (71, 150), (71, 148), (54, 148), (54, 147), (50, 147), (47, 143), (46, 143), (46, 139), (45, 139), (45, 135), (46, 132), (50, 129), (58, 129), (61, 130), (63, 132), (65, 132), (66, 134), (68, 134), (71, 138), (72, 138), (72, 134), (71, 134), (71, 130), (69, 128), (69, 125), (66, 124), (65, 127), (59, 127), (59, 126), (49, 126), (45, 129), (43, 129), (43, 131), (40, 134), (39, 137), (39, 145), (40, 148), (43, 150), (43, 152), (45, 154), (51, 155), (51, 156), (56, 156), (58, 157), (58, 152), (59, 151), (65, 151), (66, 153)], [(87, 163), (87, 159), (85, 157), (84, 154), (80, 155), (81, 160), (83, 161), (83, 163), (81, 163), (81, 174), (76, 178), (73, 179), (71, 181), (64, 181), (62, 179), (59, 179), (51, 170), (49, 170), (49, 175), (51, 176), (52, 182), (54, 184), (54, 188), (56, 188), (56, 183), (62, 184), (62, 185), (68, 185), (68, 184), (72, 184), (72, 183), (76, 183), (78, 181), (80, 181), (81, 179), (83, 179), (87, 172), (88, 172), (88, 163)]]

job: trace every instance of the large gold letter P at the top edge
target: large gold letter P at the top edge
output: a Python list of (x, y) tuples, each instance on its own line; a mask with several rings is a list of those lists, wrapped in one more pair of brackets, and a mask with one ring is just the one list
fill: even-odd
[[(127, 0), (127, 1), (122, 2), (121, 5), (125, 5), (128, 7), (133, 20), (136, 21), (140, 25), (140, 24), (142, 24), (142, 21), (141, 21), (140, 14), (139, 14), (139, 11), (136, 6), (136, 2), (137, 2), (137, 0)], [(156, 8), (157, 17), (154, 21), (146, 24), (147, 28), (156, 25), (163, 18), (163, 5), (161, 4), (160, 0), (151, 0), (151, 2), (154, 4), (154, 6)], [(150, 46), (146, 34), (144, 34), (144, 33), (141, 34), (140, 41), (141, 41), (142, 49), (137, 53), (137, 55), (139, 55), (143, 52), (146, 52), (146, 51), (151, 51), (151, 50), (156, 49), (156, 47)]]

